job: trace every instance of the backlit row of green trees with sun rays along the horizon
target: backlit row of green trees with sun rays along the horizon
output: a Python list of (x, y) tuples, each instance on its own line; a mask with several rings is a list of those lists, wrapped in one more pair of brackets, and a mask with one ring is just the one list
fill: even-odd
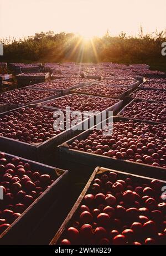
[[(161, 45), (166, 42), (166, 31), (127, 37), (122, 32), (118, 37), (108, 33), (102, 38), (94, 37), (85, 42), (79, 35), (54, 32), (36, 33), (33, 37), (1, 39), (7, 62), (116, 62), (164, 64)], [(163, 69), (164, 66), (163, 66)]]

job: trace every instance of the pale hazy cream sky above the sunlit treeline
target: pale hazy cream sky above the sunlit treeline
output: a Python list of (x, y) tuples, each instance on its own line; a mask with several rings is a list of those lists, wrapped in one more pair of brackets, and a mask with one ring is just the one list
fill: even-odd
[(75, 32), (91, 37), (136, 35), (166, 29), (166, 0), (0, 0), (0, 38), (35, 32)]

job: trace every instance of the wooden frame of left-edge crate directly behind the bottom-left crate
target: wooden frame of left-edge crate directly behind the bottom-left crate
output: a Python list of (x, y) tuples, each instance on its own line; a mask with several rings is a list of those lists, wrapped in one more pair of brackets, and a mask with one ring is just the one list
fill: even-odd
[[(37, 107), (38, 105), (28, 105), (25, 107)], [(58, 109), (53, 109), (51, 107), (46, 107), (42, 106), (44, 109), (48, 109), (51, 111), (56, 111)], [(19, 107), (18, 109), (14, 110), (19, 110), (22, 107)], [(0, 114), (0, 118), (3, 116), (9, 114), (9, 112), (3, 112)], [(64, 111), (65, 113), (65, 111)], [(8, 137), (3, 137), (0, 136), (0, 150), (18, 155), (20, 157), (28, 158), (30, 160), (34, 160), (37, 162), (42, 162), (42, 163), (48, 163), (50, 162), (50, 159), (56, 157), (55, 149), (58, 145), (61, 143), (65, 142), (66, 140), (69, 140), (71, 137), (74, 137), (75, 135), (79, 134), (84, 127), (85, 122), (89, 122), (89, 119), (85, 119), (84, 121), (79, 123), (79, 126), (81, 127), (80, 130), (74, 129), (73, 126), (72, 129), (65, 130), (61, 132), (60, 134), (50, 138), (49, 140), (46, 140), (42, 143), (37, 143), (37, 144), (28, 144), (26, 142), (22, 142), (19, 140), (14, 140), (14, 139), (9, 139)]]

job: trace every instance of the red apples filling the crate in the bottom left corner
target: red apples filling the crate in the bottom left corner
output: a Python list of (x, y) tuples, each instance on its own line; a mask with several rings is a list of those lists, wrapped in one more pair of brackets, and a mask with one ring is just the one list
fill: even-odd
[[(41, 173), (36, 169), (34, 170), (30, 163), (22, 162), (18, 157), (8, 160), (5, 153), (1, 152), (0, 162), (2, 162), (2, 160), (4, 170), (1, 169), (0, 185), (1, 188), (3, 188), (4, 199), (1, 200), (0, 205), (0, 234), (10, 227), (12, 222), (20, 217), (25, 209), (55, 181), (53, 175)], [(24, 175), (18, 172), (18, 170), (20, 170), (20, 163), (22, 163)], [(11, 172), (10, 170), (13, 171), (12, 175), (9, 174)], [(40, 182), (40, 190), (38, 189), (39, 187), (35, 185), (36, 178), (34, 178), (33, 174), (36, 172), (39, 173), (39, 180), (44, 180), (44, 182)], [(32, 175), (29, 176), (29, 173), (32, 173)], [(7, 175), (8, 182), (6, 182)], [(13, 183), (14, 178), (17, 182)]]

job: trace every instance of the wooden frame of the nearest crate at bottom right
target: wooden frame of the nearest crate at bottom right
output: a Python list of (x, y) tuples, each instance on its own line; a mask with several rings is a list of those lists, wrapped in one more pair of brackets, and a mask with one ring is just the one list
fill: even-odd
[[(76, 214), (78, 214), (78, 210), (79, 207), (82, 204), (82, 201), (85, 197), (85, 195), (87, 193), (91, 193), (90, 187), (92, 185), (92, 182), (94, 181), (95, 178), (98, 178), (99, 175), (102, 174), (107, 174), (109, 172), (115, 172), (118, 175), (118, 180), (125, 180), (126, 178), (132, 178), (132, 180), (134, 180), (134, 182), (138, 182), (143, 184), (143, 183), (150, 183), (152, 181), (152, 178), (149, 177), (144, 177), (144, 176), (138, 176), (138, 175), (134, 175), (131, 173), (125, 173), (122, 171), (115, 171), (112, 169), (108, 169), (108, 168), (104, 168), (104, 167), (96, 167), (94, 172), (92, 173), (89, 181), (87, 182), (84, 190), (82, 191), (82, 193), (80, 194), (79, 198), (77, 199), (76, 203), (74, 204), (74, 206), (72, 207), (70, 213), (68, 214), (68, 216), (66, 217), (65, 221), (63, 222), (63, 224), (61, 225), (61, 227), (59, 228), (58, 232), (55, 234), (54, 238), (51, 240), (50, 245), (56, 245), (60, 243), (60, 239), (63, 238), (63, 233), (64, 231), (70, 227), (70, 225), (72, 225), (72, 221), (74, 221)], [(161, 182), (163, 182), (163, 184), (166, 185), (166, 182), (161, 180)]]

